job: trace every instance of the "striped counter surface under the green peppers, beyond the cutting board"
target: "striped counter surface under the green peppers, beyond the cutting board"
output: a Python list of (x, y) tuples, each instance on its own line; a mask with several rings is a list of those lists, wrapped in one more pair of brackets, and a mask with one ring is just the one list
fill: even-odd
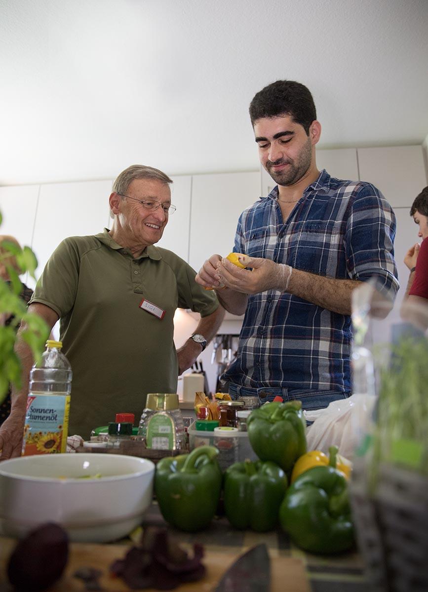
[[(166, 526), (155, 502), (145, 514), (144, 525)], [(368, 582), (363, 575), (363, 562), (356, 549), (340, 555), (313, 555), (294, 546), (288, 536), (278, 529), (268, 533), (232, 529), (225, 517), (213, 520), (209, 528), (199, 533), (184, 533), (168, 526), (180, 543), (200, 542), (210, 551), (224, 553), (225, 557), (241, 554), (257, 543), (264, 542), (272, 558), (296, 558), (304, 564), (311, 592), (366, 592)], [(293, 582), (284, 582), (283, 590), (295, 592)]]

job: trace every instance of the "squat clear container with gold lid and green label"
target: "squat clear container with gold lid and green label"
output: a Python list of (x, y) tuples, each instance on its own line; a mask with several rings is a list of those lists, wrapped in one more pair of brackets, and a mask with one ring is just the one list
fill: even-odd
[(186, 432), (177, 394), (151, 392), (147, 395), (138, 436), (145, 441), (147, 448), (154, 450), (186, 448)]

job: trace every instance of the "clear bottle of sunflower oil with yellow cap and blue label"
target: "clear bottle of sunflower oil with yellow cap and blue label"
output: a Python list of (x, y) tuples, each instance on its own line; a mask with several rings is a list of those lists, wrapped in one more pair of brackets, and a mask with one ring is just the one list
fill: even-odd
[(23, 456), (66, 452), (72, 370), (62, 342), (47, 340), (30, 372)]

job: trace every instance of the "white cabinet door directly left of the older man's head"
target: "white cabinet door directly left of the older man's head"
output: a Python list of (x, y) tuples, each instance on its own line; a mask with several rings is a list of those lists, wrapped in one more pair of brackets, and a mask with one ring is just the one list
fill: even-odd
[(111, 181), (41, 185), (33, 240), (33, 250), (39, 260), (37, 278), (63, 239), (98, 234), (109, 226), (111, 185)]

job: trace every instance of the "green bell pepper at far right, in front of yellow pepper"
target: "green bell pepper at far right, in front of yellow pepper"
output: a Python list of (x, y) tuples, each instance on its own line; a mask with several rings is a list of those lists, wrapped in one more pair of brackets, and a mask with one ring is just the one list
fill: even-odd
[(305, 551), (338, 553), (352, 547), (354, 529), (343, 473), (324, 465), (299, 475), (285, 494), (279, 520)]

